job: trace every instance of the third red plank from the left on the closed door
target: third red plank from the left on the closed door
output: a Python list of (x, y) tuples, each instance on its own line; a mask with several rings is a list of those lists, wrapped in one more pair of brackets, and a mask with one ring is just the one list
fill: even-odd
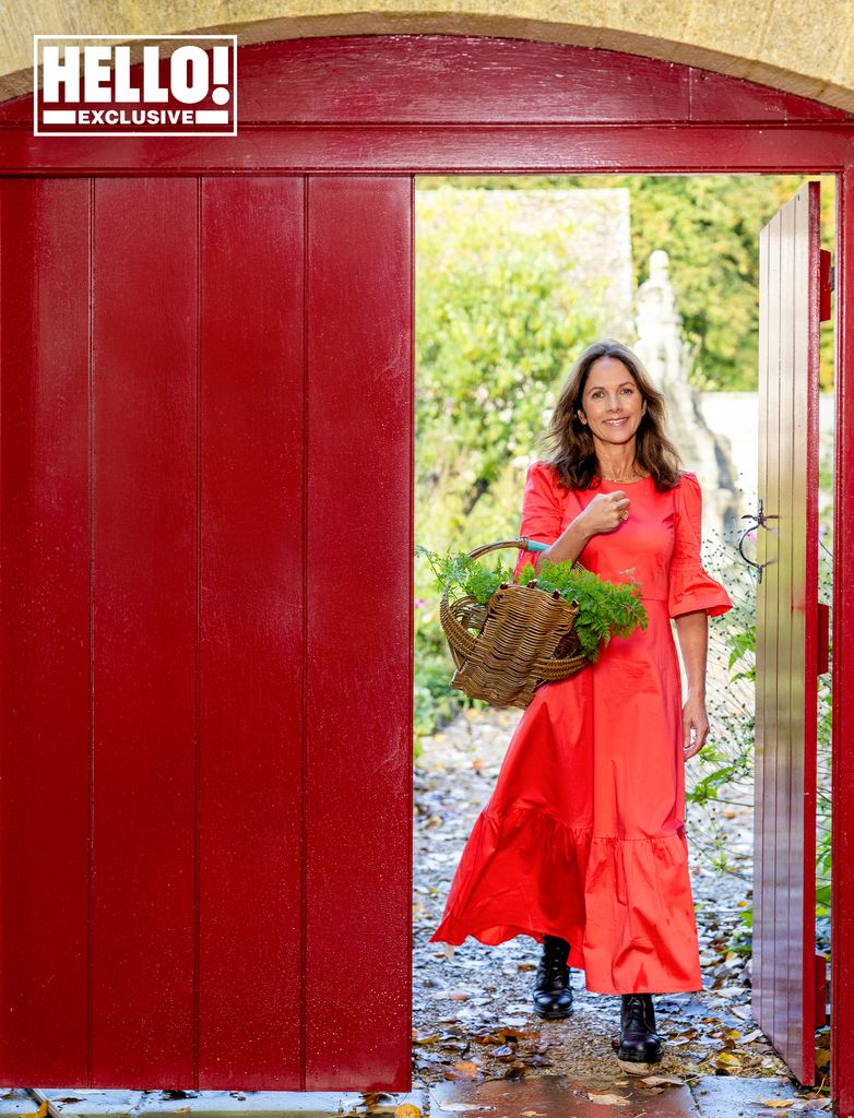
[(298, 1090), (304, 180), (201, 183), (199, 1083)]

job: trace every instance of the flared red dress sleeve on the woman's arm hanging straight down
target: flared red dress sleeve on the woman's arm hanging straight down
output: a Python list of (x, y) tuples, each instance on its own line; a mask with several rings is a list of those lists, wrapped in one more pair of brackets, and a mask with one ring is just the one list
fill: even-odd
[(676, 539), (667, 584), (667, 613), (671, 617), (705, 609), (709, 617), (732, 609), (723, 586), (703, 569), (702, 493), (696, 474), (683, 474), (675, 490)]

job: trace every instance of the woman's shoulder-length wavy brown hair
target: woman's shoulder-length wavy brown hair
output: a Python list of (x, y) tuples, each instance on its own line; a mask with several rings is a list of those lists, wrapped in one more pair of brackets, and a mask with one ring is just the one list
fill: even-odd
[(551, 444), (553, 448), (547, 461), (569, 489), (586, 490), (599, 485), (594, 437), (587, 424), (578, 418), (578, 411), (583, 410), (582, 400), (590, 368), (602, 357), (616, 358), (623, 362), (646, 401), (646, 411), (635, 433), (636, 465), (652, 475), (658, 491), (673, 489), (679, 484), (682, 459), (665, 430), (666, 400), (651, 381), (640, 360), (627, 345), (611, 338), (588, 345), (572, 366), (544, 437), (544, 443)]

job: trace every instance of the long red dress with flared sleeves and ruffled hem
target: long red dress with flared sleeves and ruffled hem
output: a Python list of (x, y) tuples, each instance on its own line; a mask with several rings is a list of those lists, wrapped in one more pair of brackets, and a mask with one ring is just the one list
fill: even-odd
[[(646, 629), (613, 637), (599, 661), (542, 684), (510, 740), (430, 937), (500, 944), (544, 934), (599, 994), (702, 989), (687, 842), (682, 693), (671, 617), (732, 608), (703, 569), (701, 490), (683, 474), (564, 489), (534, 462), (520, 534), (552, 543), (597, 493), (624, 490), (629, 517), (594, 536), (578, 561), (642, 584)], [(534, 562), (521, 551), (516, 576)]]

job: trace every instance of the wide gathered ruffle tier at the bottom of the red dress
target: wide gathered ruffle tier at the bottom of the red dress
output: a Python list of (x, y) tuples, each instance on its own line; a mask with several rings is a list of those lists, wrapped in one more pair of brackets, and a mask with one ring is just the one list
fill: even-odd
[(547, 934), (594, 993), (702, 989), (684, 830), (619, 839), (529, 805), (484, 809), (430, 942)]

